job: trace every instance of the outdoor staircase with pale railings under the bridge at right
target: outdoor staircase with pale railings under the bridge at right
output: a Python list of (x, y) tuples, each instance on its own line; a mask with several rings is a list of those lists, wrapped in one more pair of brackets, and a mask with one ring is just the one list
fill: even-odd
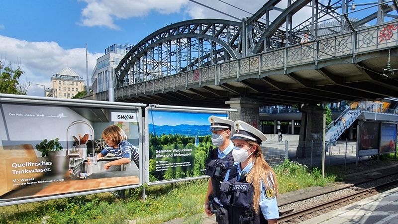
[(333, 120), (326, 128), (325, 140), (329, 142), (337, 140), (344, 130), (350, 127), (359, 115), (361, 115), (360, 108), (355, 111), (351, 111), (350, 107), (346, 107), (345, 111), (340, 114), (341, 117), (345, 118), (345, 125), (343, 125), (343, 122), (338, 117)]

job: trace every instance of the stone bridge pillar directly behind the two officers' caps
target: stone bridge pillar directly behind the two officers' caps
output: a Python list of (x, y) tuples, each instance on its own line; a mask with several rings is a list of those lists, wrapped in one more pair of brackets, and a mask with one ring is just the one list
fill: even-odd
[(260, 128), (259, 107), (261, 104), (254, 99), (247, 97), (231, 98), (225, 104), (229, 104), (231, 109), (238, 110), (237, 112), (231, 112), (231, 120), (243, 120), (257, 129)]

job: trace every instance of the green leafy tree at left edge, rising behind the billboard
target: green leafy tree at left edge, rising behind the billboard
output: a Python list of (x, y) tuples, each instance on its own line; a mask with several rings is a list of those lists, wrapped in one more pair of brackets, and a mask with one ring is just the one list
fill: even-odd
[(0, 61), (0, 93), (26, 95), (27, 86), (22, 87), (19, 84), (19, 77), (23, 71), (19, 68), (4, 67)]

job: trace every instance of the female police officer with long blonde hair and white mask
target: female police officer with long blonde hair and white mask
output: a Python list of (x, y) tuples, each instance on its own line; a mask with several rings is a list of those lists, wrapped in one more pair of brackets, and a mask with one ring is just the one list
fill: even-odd
[(232, 155), (233, 166), (221, 184), (221, 204), (227, 208), (229, 224), (275, 224), (279, 218), (277, 180), (265, 161), (261, 142), (266, 136), (253, 126), (237, 120)]

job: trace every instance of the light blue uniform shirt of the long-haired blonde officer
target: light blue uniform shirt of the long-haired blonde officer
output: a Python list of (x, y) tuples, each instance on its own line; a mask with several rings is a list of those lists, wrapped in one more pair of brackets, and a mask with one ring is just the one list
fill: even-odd
[[(250, 163), (247, 164), (247, 166), (242, 170), (242, 168), (240, 167), (240, 163), (238, 164), (237, 167), (237, 179), (239, 180), (240, 175), (243, 171), (246, 171), (247, 173), (249, 173), (249, 171), (253, 168), (254, 163)], [(229, 171), (227, 171), (226, 175), (225, 175), (225, 181), (228, 180), (229, 178)], [(272, 178), (272, 174), (271, 174), (271, 178)], [(272, 179), (268, 180), (269, 185), (272, 186)], [(273, 220), (273, 219), (278, 219), (279, 218), (279, 212), (278, 212), (278, 203), (277, 203), (277, 198), (276, 197), (266, 197), (265, 193), (264, 193), (264, 183), (261, 182), (261, 189), (260, 189), (260, 209), (261, 212), (264, 215), (264, 218), (266, 220)], [(273, 189), (274, 190), (274, 189)], [(275, 196), (275, 191), (274, 191), (274, 196)]]

